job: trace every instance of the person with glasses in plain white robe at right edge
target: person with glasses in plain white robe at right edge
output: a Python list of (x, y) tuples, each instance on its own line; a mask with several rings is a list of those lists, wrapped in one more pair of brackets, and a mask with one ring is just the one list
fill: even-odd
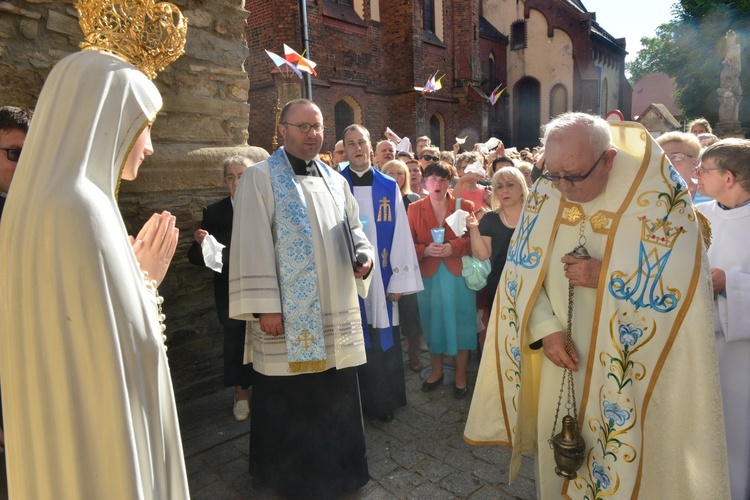
[(706, 148), (693, 176), (713, 201), (698, 209), (711, 221), (708, 249), (714, 332), (724, 402), (732, 498), (750, 498), (750, 141), (725, 139)]

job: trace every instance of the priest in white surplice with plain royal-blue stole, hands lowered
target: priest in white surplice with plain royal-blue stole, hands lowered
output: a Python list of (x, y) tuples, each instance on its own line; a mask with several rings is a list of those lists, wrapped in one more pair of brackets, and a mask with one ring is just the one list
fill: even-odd
[(349, 165), (341, 175), (359, 204), (365, 234), (377, 248), (370, 289), (360, 302), (367, 347), (367, 363), (359, 368), (362, 410), (390, 422), (394, 410), (406, 405), (398, 299), (424, 287), (398, 184), (370, 163), (370, 132), (350, 125), (343, 139)]

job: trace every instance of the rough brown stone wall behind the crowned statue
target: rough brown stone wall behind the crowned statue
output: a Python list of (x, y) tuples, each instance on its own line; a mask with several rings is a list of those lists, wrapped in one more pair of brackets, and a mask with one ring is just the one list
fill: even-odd
[[(258, 161), (267, 153), (247, 146), (241, 0), (174, 3), (189, 21), (186, 53), (154, 80), (164, 98), (152, 132), (155, 154), (136, 181), (122, 184), (119, 200), (132, 234), (153, 212), (177, 216), (180, 243), (160, 293), (175, 391), (184, 399), (220, 387), (223, 373), (211, 271), (187, 261), (193, 232), (202, 207), (226, 196), (221, 160), (241, 153)], [(0, 1), (0, 104), (33, 108), (52, 66), (77, 50), (83, 36), (73, 4)]]

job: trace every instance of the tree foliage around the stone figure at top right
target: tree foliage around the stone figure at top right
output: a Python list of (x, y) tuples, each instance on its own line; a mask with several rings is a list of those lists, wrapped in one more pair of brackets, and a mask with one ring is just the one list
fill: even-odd
[[(726, 54), (725, 34), (739, 34), (745, 71), (740, 82), (750, 94), (750, 0), (681, 0), (674, 19), (657, 28), (654, 37), (641, 39), (643, 48), (627, 69), (631, 82), (662, 71), (674, 77), (677, 104), (686, 118), (705, 116), (718, 121), (719, 75)], [(750, 121), (750, 95), (740, 107), (741, 122)]]

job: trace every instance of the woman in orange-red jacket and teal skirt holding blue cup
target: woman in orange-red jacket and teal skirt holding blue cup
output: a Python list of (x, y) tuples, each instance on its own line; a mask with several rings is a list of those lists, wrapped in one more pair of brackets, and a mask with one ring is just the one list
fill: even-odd
[[(468, 394), (469, 351), (476, 347), (476, 294), (461, 274), (461, 257), (471, 254), (471, 241), (445, 224), (458, 208), (449, 192), (453, 167), (430, 163), (424, 175), (429, 194), (412, 203), (408, 214), (424, 282), (424, 290), (418, 293), (419, 312), (432, 365), (422, 390), (429, 392), (443, 383), (443, 356), (447, 354), (455, 356), (454, 397), (463, 399)], [(472, 202), (463, 200), (460, 208), (474, 215)]]

